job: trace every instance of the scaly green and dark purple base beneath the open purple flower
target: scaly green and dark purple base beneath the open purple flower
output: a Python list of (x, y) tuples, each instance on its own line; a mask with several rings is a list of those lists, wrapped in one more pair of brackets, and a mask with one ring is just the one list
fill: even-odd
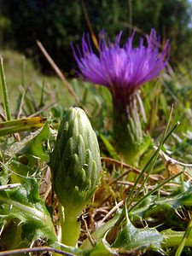
[[(134, 92), (113, 96), (113, 134), (119, 153), (132, 166), (137, 166), (150, 140), (144, 137)], [(147, 139), (148, 138), (148, 139)], [(147, 140), (146, 140), (147, 139)]]

